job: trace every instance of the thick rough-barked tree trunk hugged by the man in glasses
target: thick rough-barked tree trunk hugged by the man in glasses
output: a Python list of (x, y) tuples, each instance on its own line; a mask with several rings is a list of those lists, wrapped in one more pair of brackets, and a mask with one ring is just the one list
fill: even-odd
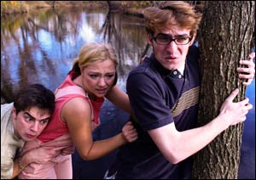
[[(236, 68), (247, 59), (255, 25), (253, 1), (206, 1), (200, 29), (201, 99), (199, 126), (212, 121), (231, 91), (239, 87), (236, 101), (244, 99), (245, 87)], [(230, 127), (195, 155), (192, 178), (237, 178), (243, 123)]]

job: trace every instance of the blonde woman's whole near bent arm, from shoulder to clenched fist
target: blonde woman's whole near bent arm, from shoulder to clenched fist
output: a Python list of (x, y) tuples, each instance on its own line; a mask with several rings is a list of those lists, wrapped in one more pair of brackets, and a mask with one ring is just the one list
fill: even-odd
[(73, 143), (84, 160), (95, 160), (108, 155), (114, 149), (118, 149), (121, 145), (132, 142), (137, 138), (136, 129), (130, 122), (125, 124), (123, 132), (118, 135), (94, 142), (90, 112), (90, 104), (83, 98), (73, 98), (61, 110), (61, 116), (67, 122)]

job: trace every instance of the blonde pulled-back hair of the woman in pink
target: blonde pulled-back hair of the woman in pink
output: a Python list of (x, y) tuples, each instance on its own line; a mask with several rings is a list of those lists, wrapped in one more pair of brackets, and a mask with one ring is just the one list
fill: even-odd
[(117, 67), (117, 55), (110, 44), (103, 42), (91, 42), (80, 49), (78, 58), (73, 61), (72, 71), (81, 74), (80, 68), (83, 69), (96, 61), (103, 61), (106, 59), (112, 60), (115, 67)]

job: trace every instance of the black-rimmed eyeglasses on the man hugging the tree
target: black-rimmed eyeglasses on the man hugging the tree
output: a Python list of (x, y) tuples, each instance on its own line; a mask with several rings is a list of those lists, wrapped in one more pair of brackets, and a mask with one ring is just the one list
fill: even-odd
[(187, 37), (187, 36), (177, 36), (175, 38), (170, 37), (169, 35), (166, 34), (158, 34), (156, 37), (151, 36), (151, 38), (157, 43), (161, 45), (168, 45), (172, 41), (174, 41), (177, 45), (186, 45), (188, 44), (191, 40), (192, 37)]

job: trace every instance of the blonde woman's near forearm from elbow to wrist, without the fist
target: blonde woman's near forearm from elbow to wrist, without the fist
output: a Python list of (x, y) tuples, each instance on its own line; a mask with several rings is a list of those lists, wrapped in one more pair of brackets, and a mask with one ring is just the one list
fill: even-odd
[(79, 150), (79, 155), (84, 160), (96, 160), (104, 155), (108, 155), (114, 149), (118, 149), (123, 144), (127, 143), (122, 133), (118, 135), (99, 141), (92, 142), (90, 149)]

